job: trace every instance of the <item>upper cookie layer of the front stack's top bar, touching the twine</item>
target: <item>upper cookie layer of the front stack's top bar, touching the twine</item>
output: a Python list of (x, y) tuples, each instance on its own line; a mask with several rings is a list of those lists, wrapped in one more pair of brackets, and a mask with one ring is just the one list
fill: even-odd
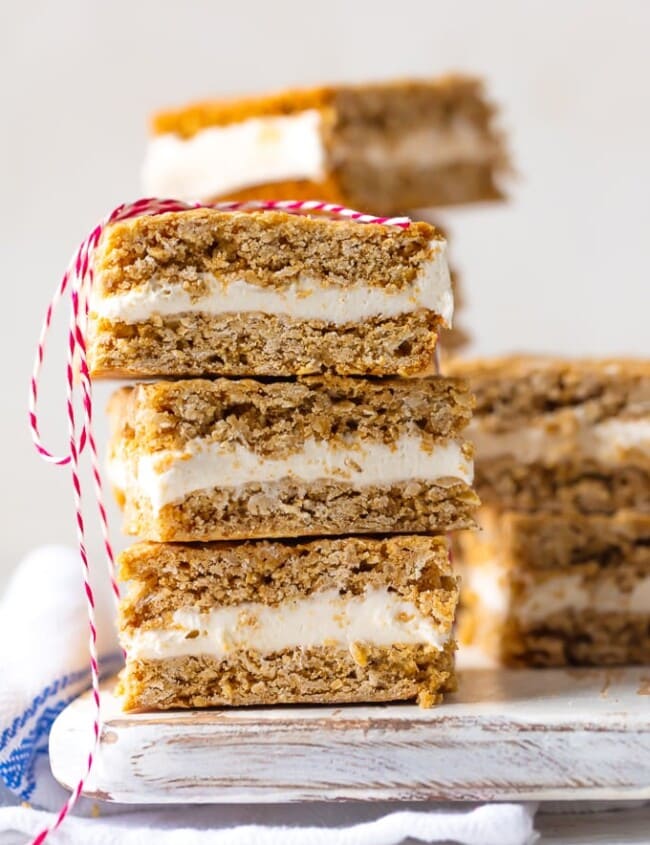
[(203, 273), (278, 290), (300, 274), (324, 285), (346, 286), (355, 279), (399, 290), (442, 240), (424, 222), (402, 228), (212, 208), (144, 215), (106, 228), (95, 254), (97, 293), (132, 291), (155, 277), (182, 283), (198, 298), (205, 293)]

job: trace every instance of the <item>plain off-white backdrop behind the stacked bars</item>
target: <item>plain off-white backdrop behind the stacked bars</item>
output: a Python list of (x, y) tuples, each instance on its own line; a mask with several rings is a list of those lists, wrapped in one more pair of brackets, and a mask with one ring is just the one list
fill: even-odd
[[(508, 205), (442, 218), (475, 351), (647, 355), (649, 32), (645, 0), (0, 0), (0, 581), (33, 545), (74, 540), (67, 472), (41, 463), (27, 434), (28, 376), (73, 248), (138, 194), (152, 110), (320, 81), (482, 74), (519, 175)], [(62, 340), (42, 403), (57, 448)]]

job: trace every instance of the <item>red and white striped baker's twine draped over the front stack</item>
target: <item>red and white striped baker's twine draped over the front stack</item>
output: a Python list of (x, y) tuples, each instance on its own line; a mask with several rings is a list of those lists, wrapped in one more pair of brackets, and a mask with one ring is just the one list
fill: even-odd
[[(203, 205), (200, 203), (183, 203), (169, 199), (140, 199), (136, 202), (120, 205), (112, 211), (92, 230), (72, 257), (72, 260), (68, 265), (68, 269), (64, 273), (59, 287), (48, 306), (45, 314), (45, 320), (43, 321), (43, 326), (41, 328), (36, 359), (34, 361), (34, 369), (30, 382), (29, 426), (34, 446), (43, 460), (48, 463), (55, 464), (56, 466), (69, 466), (72, 475), (77, 524), (77, 542), (82, 564), (83, 585), (86, 595), (88, 625), (90, 630), (88, 648), (90, 653), (90, 674), (92, 679), (92, 696), (94, 702), (93, 740), (88, 753), (86, 768), (79, 779), (79, 782), (72, 791), (68, 800), (61, 807), (56, 820), (49, 827), (44, 828), (36, 836), (32, 845), (41, 845), (41, 843), (47, 839), (48, 835), (61, 825), (64, 818), (76, 804), (83, 791), (85, 781), (92, 769), (100, 732), (101, 713), (99, 696), (99, 664), (97, 660), (97, 627), (95, 622), (95, 598), (90, 585), (90, 563), (86, 547), (86, 533), (82, 512), (82, 488), (79, 475), (80, 458), (86, 447), (88, 447), (90, 451), (90, 466), (93, 477), (95, 504), (97, 505), (99, 514), (99, 522), (102, 530), (104, 553), (106, 563), (108, 565), (111, 589), (116, 601), (119, 599), (120, 595), (115, 572), (115, 556), (110, 541), (108, 518), (106, 515), (106, 508), (104, 506), (104, 495), (99, 459), (97, 455), (97, 445), (95, 443), (92, 430), (92, 382), (86, 359), (86, 324), (88, 320), (90, 291), (94, 281), (93, 255), (104, 229), (111, 223), (116, 223), (119, 220), (128, 220), (132, 217), (141, 217), (143, 215), (164, 214), (169, 211), (189, 211), (193, 208), (214, 208), (218, 211), (287, 211), (295, 214), (312, 212), (354, 220), (358, 223), (380, 223), (389, 226), (398, 226), (400, 228), (407, 228), (410, 225), (408, 217), (374, 217), (371, 214), (363, 214), (360, 211), (354, 211), (350, 208), (345, 208), (342, 205), (318, 202), (315, 200), (253, 200), (249, 202), (219, 202), (210, 205)], [(55, 455), (43, 444), (43, 441), (41, 440), (37, 414), (37, 402), (39, 378), (43, 360), (45, 358), (47, 335), (52, 324), (54, 312), (66, 294), (69, 294), (70, 296), (71, 305), (66, 363), (66, 414), (68, 418), (69, 441), (68, 452), (63, 455)], [(78, 425), (76, 416), (77, 412), (75, 411), (77, 386), (81, 388), (82, 422), (80, 426)]]

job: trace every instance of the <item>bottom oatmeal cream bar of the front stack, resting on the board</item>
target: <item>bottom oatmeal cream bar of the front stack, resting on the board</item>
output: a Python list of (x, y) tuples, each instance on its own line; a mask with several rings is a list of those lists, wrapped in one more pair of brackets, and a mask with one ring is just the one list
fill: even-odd
[(430, 706), (455, 686), (442, 537), (142, 543), (120, 566), (127, 710)]

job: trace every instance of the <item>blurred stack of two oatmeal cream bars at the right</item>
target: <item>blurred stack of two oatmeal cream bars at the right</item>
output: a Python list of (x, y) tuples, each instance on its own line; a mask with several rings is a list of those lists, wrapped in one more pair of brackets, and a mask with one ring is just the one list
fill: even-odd
[(456, 361), (482, 531), (460, 637), (518, 666), (650, 662), (650, 362)]

